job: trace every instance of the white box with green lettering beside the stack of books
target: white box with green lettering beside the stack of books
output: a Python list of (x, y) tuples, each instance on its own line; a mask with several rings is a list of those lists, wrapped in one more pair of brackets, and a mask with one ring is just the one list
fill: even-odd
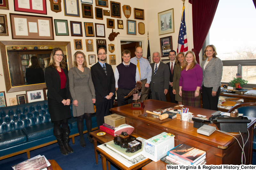
[(144, 142), (142, 155), (157, 162), (174, 148), (174, 136), (163, 132)]

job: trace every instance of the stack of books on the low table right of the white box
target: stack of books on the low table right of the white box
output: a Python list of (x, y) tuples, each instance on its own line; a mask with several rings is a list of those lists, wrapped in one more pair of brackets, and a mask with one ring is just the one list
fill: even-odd
[(180, 144), (167, 152), (160, 160), (171, 165), (204, 165), (206, 152), (200, 149)]

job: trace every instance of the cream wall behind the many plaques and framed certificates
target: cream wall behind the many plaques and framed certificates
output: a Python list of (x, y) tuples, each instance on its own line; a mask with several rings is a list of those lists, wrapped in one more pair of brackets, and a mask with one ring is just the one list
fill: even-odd
[[(152, 52), (159, 51), (160, 52), (160, 38), (165, 36), (172, 36), (172, 43), (173, 43), (173, 49), (176, 50), (177, 48), (177, 42), (178, 42), (178, 33), (180, 28), (180, 20), (181, 20), (181, 14), (182, 14), (182, 1), (177, 0), (116, 0), (117, 2), (121, 3), (121, 20), (124, 22), (124, 29), (117, 29), (117, 18), (112, 18), (111, 16), (103, 16), (103, 20), (95, 19), (95, 1), (93, 0), (93, 15), (94, 19), (86, 19), (82, 18), (82, 10), (81, 10), (81, 2), (79, 1), (79, 7), (80, 7), (80, 17), (69, 17), (64, 16), (64, 5), (63, 2), (61, 3), (61, 12), (52, 12), (50, 8), (50, 2), (46, 0), (47, 5), (47, 16), (53, 17), (53, 19), (66, 19), (68, 20), (68, 28), (69, 28), (69, 36), (56, 36), (55, 35), (55, 28), (54, 28), (54, 41), (70, 41), (71, 42), (71, 52), (72, 54), (75, 53), (74, 49), (74, 39), (82, 39), (83, 43), (83, 51), (86, 55), (86, 60), (88, 62), (88, 55), (90, 54), (96, 54), (96, 39), (106, 39), (107, 40), (107, 48), (108, 44), (112, 43), (115, 44), (115, 51), (113, 53), (109, 54), (115, 54), (116, 55), (116, 64), (118, 65), (121, 63), (121, 47), (120, 47), (120, 41), (121, 40), (132, 40), (132, 41), (142, 41), (142, 48), (143, 48), (143, 55), (147, 56), (147, 33), (149, 33), (149, 42), (150, 42), (150, 51), (151, 56)], [(126, 20), (127, 18), (124, 16), (122, 6), (123, 5), (130, 5), (132, 8), (132, 14), (130, 16), (130, 20), (136, 20), (137, 21), (137, 35), (127, 35), (126, 34)], [(110, 5), (110, 0), (108, 5)], [(140, 8), (145, 10), (145, 20), (138, 20), (134, 19), (133, 15), (133, 8)], [(186, 13), (186, 26), (187, 26), (187, 35), (188, 35), (188, 50), (191, 50), (193, 48), (193, 34), (192, 34), (192, 5), (188, 3), (188, 0), (185, 2), (185, 13)], [(108, 8), (102, 7), (103, 10), (110, 10), (110, 6)], [(168, 9), (174, 8), (174, 30), (175, 32), (172, 34), (166, 34), (166, 35), (158, 35), (158, 12), (162, 12)], [(40, 15), (40, 14), (33, 14), (33, 13), (27, 13), (27, 12), (16, 12), (14, 11), (14, 4), (13, 1), (9, 0), (9, 9), (10, 10), (0, 10), (1, 14), (7, 14), (7, 23), (8, 23), (8, 30), (9, 30), (9, 36), (1, 36), (1, 41), (22, 41), (22, 40), (12, 40), (12, 33), (11, 33), (11, 22), (10, 22), (10, 15), (9, 13), (20, 13), (24, 15)], [(46, 15), (42, 15), (46, 16)], [(107, 28), (107, 18), (115, 19), (115, 28), (114, 32), (119, 32), (120, 34), (117, 35), (114, 41), (110, 42), (108, 40), (108, 35), (112, 32), (112, 29)], [(83, 30), (83, 37), (74, 37), (71, 36), (70, 32), (70, 21), (80, 21), (82, 24), (84, 22), (93, 22), (93, 23), (102, 23), (105, 24), (105, 34), (106, 38), (98, 38), (98, 37), (85, 37), (84, 32), (84, 25), (82, 26)], [(140, 35), (138, 33), (138, 22), (143, 22), (145, 24), (145, 34)], [(95, 28), (94, 28), (95, 30)], [(94, 52), (86, 52), (85, 47), (85, 39), (93, 39), (94, 43)], [(26, 40), (27, 41), (27, 40)], [(28, 40), (29, 41), (29, 40)], [(31, 40), (35, 41), (35, 40)], [(109, 63), (109, 58), (107, 55), (107, 63)], [(164, 58), (162, 58), (164, 59)], [(113, 69), (116, 68), (117, 65), (112, 65)], [(90, 67), (92, 65), (88, 65)], [(0, 73), (3, 73), (3, 65), (2, 60), (0, 60)], [(10, 105), (9, 98), (16, 97), (16, 95), (19, 94), (25, 94), (25, 91), (20, 92), (14, 92), (14, 93), (6, 93), (5, 89), (5, 83), (4, 83), (4, 76), (0, 76), (0, 91), (5, 91), (6, 95), (6, 102), (7, 105)]]

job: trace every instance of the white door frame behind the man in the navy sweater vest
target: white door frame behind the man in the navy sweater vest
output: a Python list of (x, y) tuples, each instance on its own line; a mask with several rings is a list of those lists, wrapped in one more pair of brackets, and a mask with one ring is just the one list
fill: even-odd
[(121, 41), (140, 41), (143, 50), (143, 57), (147, 56), (147, 38), (137, 38), (137, 37), (124, 37), (117, 36), (117, 57), (116, 57), (116, 65), (119, 65), (122, 62), (122, 56), (119, 56), (121, 51)]

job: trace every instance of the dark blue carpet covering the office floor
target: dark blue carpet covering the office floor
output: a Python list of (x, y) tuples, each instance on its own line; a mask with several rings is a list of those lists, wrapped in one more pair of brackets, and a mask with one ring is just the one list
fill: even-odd
[[(36, 155), (44, 155), (47, 159), (54, 159), (60, 165), (63, 170), (102, 170), (100, 155), (98, 154), (98, 165), (96, 165), (95, 154), (93, 144), (89, 142), (84, 134), (86, 147), (83, 148), (80, 146), (80, 137), (75, 137), (75, 144), (72, 144), (70, 140), (69, 144), (74, 150), (73, 153), (68, 153), (68, 155), (62, 155), (60, 153), (60, 147), (58, 143), (54, 143), (43, 148), (30, 151), (30, 157), (35, 157)], [(27, 160), (27, 154), (23, 153), (11, 158), (6, 158), (0, 160), (0, 169), (1, 170), (12, 170), (13, 165), (18, 164)], [(256, 165), (256, 152), (253, 152), (252, 155), (252, 165)], [(111, 164), (111, 170), (119, 169), (115, 165)]]

